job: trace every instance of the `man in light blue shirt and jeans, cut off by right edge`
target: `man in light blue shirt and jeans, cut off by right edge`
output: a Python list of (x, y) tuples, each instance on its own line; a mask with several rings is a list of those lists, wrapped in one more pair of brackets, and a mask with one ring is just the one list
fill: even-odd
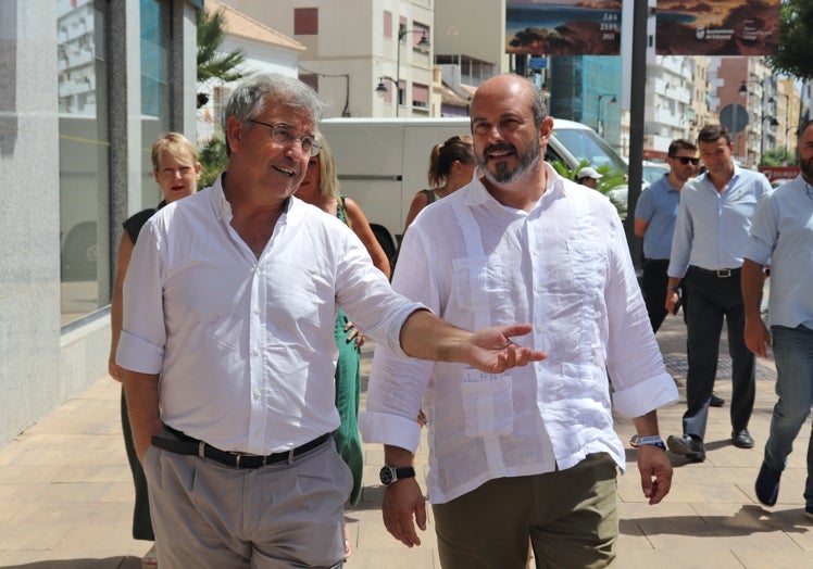
[[(776, 504), (779, 478), (813, 404), (813, 121), (800, 129), (801, 174), (756, 206), (742, 264), (746, 344), (765, 357), (773, 337), (776, 394), (771, 435), (756, 478), (756, 497)], [(768, 333), (760, 314), (764, 271), (771, 264)], [(804, 513), (813, 518), (813, 439), (808, 444)]]

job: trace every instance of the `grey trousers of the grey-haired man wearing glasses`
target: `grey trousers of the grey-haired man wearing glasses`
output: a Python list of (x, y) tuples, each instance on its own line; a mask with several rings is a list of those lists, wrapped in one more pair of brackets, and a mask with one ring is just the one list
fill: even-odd
[(143, 469), (162, 569), (343, 565), (352, 477), (333, 439), (293, 464), (257, 469), (150, 446)]

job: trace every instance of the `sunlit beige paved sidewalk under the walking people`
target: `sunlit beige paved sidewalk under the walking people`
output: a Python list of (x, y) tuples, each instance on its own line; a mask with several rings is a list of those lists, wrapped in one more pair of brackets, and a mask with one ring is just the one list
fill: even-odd
[[(658, 339), (683, 396), (683, 321), (667, 318)], [(721, 353), (727, 354), (725, 345)], [(370, 355), (365, 350), (365, 376)], [(758, 361), (756, 403), (750, 425), (756, 446), (750, 451), (729, 443), (729, 377), (730, 361), (722, 357), (715, 389), (726, 406), (711, 409), (708, 457), (702, 464), (689, 464), (671, 455), (675, 476), (664, 503), (649, 506), (645, 502), (636, 452), (628, 448), (627, 473), (618, 479), (621, 569), (813, 567), (813, 521), (804, 517), (802, 497), (810, 426), (802, 428), (790, 455), (779, 504), (763, 508), (753, 494), (753, 481), (775, 401), (775, 369), (773, 362)], [(133, 485), (122, 443), (118, 397), (118, 384), (102, 378), (0, 448), (0, 567), (140, 567), (139, 558), (150, 544), (129, 536)], [(660, 413), (664, 438), (680, 433), (684, 409), (681, 399)], [(631, 421), (624, 417), (616, 417), (616, 421), (626, 443), (634, 433)], [(365, 445), (365, 452), (362, 502), (347, 513), (353, 541), (347, 567), (439, 568), (431, 524), (422, 535), (423, 544), (412, 549), (385, 530), (378, 485), (383, 450)], [(418, 472), (425, 471), (425, 433), (417, 464)]]

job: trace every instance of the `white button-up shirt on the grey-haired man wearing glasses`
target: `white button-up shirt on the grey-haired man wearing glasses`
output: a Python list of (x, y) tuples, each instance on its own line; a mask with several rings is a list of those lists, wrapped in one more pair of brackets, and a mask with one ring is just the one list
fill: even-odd
[(166, 425), (224, 451), (287, 451), (339, 426), (337, 303), (396, 352), (421, 306), (392, 292), (345, 224), (301, 200), (289, 200), (259, 260), (230, 222), (218, 179), (147, 223), (116, 362), (160, 374)]

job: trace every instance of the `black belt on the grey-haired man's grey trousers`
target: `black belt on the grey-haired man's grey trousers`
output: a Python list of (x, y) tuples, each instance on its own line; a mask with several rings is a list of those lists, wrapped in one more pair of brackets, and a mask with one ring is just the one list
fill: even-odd
[(228, 451), (221, 451), (212, 446), (211, 444), (204, 443), (198, 439), (193, 439), (172, 427), (167, 427), (170, 432), (178, 437), (179, 441), (172, 439), (163, 439), (161, 437), (153, 437), (152, 444), (164, 451), (171, 453), (195, 455), (203, 458), (211, 458), (222, 465), (230, 466), (233, 468), (260, 468), (261, 466), (273, 465), (275, 463), (282, 463), (287, 460), (289, 464), (293, 464), (293, 458), (308, 451), (313, 451), (317, 446), (327, 442), (330, 438), (330, 433), (325, 433), (322, 437), (314, 439), (311, 442), (304, 443), (302, 446), (297, 446), (290, 451), (283, 453), (273, 453), (270, 455), (259, 454), (246, 454), (246, 453), (233, 453)]

